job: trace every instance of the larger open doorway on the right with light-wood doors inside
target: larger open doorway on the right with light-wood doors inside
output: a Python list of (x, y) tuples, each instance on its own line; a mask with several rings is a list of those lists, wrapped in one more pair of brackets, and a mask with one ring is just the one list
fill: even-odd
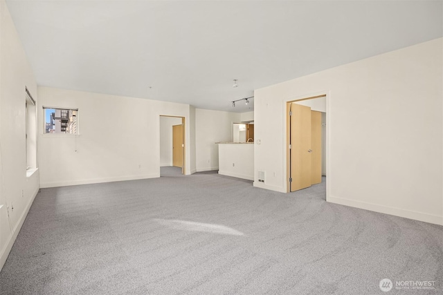
[(287, 102), (287, 192), (326, 182), (326, 95)]

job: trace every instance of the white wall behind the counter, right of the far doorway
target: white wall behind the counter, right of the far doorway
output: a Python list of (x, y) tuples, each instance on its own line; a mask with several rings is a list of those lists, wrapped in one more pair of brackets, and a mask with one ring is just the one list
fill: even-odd
[(196, 169), (219, 169), (219, 151), (215, 142), (232, 142), (233, 123), (239, 122), (240, 113), (195, 110)]

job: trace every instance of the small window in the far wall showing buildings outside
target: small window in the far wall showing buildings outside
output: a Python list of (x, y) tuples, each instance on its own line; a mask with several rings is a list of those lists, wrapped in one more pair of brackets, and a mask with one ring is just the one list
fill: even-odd
[(43, 108), (44, 133), (78, 134), (78, 109)]

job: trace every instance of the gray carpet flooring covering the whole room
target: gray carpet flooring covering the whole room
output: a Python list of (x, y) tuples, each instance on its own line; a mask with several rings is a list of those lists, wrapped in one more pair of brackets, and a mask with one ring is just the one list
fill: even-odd
[[(1, 294), (386, 294), (435, 281), (443, 227), (217, 173), (42, 189), (0, 272)], [(395, 284), (395, 283), (394, 283)]]

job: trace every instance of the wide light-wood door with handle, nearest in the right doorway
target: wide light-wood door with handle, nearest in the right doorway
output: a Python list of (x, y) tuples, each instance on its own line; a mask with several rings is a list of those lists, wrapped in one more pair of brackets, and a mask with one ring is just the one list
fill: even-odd
[(291, 104), (291, 191), (311, 186), (311, 108)]

